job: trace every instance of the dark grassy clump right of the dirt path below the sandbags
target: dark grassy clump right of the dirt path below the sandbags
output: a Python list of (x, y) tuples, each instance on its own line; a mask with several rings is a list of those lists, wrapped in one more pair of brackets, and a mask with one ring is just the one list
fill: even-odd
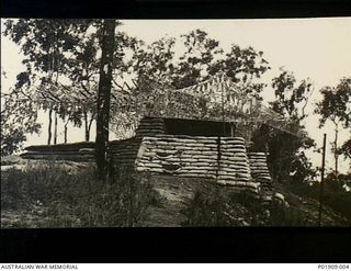
[(184, 226), (306, 226), (304, 214), (272, 201), (263, 203), (246, 192), (218, 187), (196, 190), (183, 211)]

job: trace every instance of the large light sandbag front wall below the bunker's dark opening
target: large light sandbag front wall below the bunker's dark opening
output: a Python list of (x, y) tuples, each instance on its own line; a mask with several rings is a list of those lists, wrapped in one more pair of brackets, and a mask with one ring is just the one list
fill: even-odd
[(144, 137), (136, 160), (140, 172), (215, 179), (258, 191), (241, 137), (159, 135)]

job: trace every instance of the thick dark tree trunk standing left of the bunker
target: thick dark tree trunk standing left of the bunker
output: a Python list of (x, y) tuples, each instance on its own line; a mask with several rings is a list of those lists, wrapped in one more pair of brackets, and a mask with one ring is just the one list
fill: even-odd
[(98, 92), (95, 156), (98, 178), (106, 180), (109, 118), (112, 81), (112, 61), (114, 50), (115, 20), (104, 20), (101, 46), (100, 80)]

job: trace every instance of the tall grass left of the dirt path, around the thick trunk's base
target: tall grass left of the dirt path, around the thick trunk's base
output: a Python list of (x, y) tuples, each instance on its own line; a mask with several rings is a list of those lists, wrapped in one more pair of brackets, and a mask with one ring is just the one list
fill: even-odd
[(141, 226), (155, 199), (147, 177), (117, 170), (106, 183), (94, 167), (67, 170), (55, 161), (10, 169), (1, 180), (2, 211), (21, 211), (39, 218), (15, 227)]

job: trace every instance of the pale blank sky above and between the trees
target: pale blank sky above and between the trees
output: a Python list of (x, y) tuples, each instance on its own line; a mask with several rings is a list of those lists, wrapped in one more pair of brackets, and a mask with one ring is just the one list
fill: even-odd
[[(3, 22), (3, 21), (2, 21)], [(260, 20), (122, 20), (120, 31), (136, 36), (150, 44), (166, 35), (178, 37), (192, 30), (203, 30), (208, 36), (219, 41), (219, 46), (228, 50), (231, 44), (240, 47), (252, 46), (262, 50), (272, 68), (263, 80), (270, 83), (279, 76), (280, 68), (293, 71), (297, 80), (309, 78), (314, 82), (314, 92), (309, 99), (306, 128), (320, 147), (322, 134), (327, 140), (333, 139), (333, 126), (318, 127), (318, 116), (313, 114), (315, 102), (321, 95), (319, 90), (326, 86), (337, 86), (341, 78), (351, 77), (351, 18), (328, 19), (260, 19)], [(13, 86), (15, 75), (23, 70), (20, 48), (1, 35), (1, 69), (7, 78), (1, 82), (1, 91)], [(268, 87), (263, 97), (272, 100), (273, 91)], [(44, 131), (39, 136), (29, 137), (25, 146), (45, 144), (47, 138), (46, 115), (41, 114)], [(69, 142), (83, 139), (83, 131), (70, 127)], [(340, 133), (340, 143), (349, 138), (350, 132)], [(94, 127), (91, 132), (94, 138)], [(63, 140), (63, 134), (58, 140)], [(330, 146), (328, 146), (327, 168), (332, 167)], [(315, 166), (320, 166), (320, 155), (308, 153)], [(348, 171), (351, 165), (340, 158), (341, 171)]]

